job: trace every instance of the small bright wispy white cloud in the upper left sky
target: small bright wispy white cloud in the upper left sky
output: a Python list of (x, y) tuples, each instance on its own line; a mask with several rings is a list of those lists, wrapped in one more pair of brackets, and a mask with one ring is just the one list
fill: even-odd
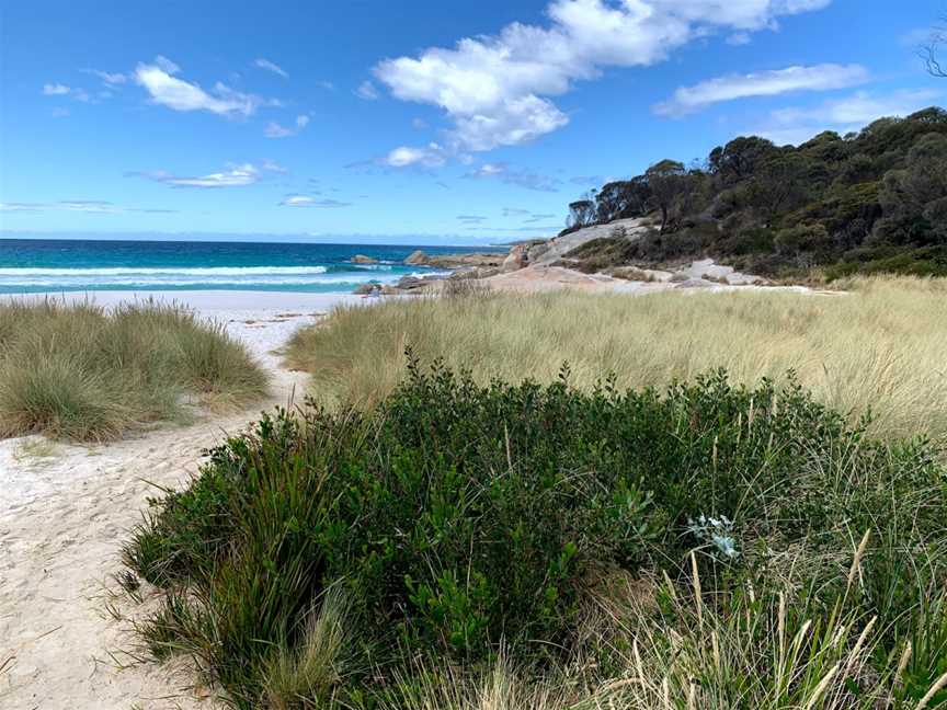
[(180, 68), (166, 57), (157, 57), (155, 64), (139, 64), (135, 68), (135, 80), (151, 94), (151, 100), (174, 111), (209, 111), (220, 116), (250, 116), (261, 105), (275, 105), (255, 94), (235, 91), (217, 82), (213, 93), (198, 84), (172, 76)]

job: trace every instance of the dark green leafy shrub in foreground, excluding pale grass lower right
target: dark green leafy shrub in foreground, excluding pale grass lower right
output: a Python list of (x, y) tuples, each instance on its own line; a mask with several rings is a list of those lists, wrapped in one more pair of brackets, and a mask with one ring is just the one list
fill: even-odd
[[(902, 554), (943, 547), (935, 451), (868, 439), (791, 383), (582, 392), (568, 369), (549, 386), (409, 369), (373, 410), (265, 417), (153, 502), (125, 552), (170, 593), (144, 627), (152, 645), (196, 654), (250, 707), (298, 686), (307, 648), (335, 648), (307, 619), (342, 587), (356, 669), (336, 690), (368, 707), (379, 677), (418, 659), (483, 668), (505, 648), (522, 667), (560, 663), (596, 580), (686, 580), (694, 549), (717, 593), (778, 586), (790, 551), (818, 560), (809, 604), (828, 609), (851, 596), (838, 551), (853, 530), (883, 522), (898, 534), (877, 539)], [(943, 559), (924, 574), (943, 580)], [(915, 603), (858, 596), (885, 623)], [(327, 663), (313, 668), (324, 694)]]

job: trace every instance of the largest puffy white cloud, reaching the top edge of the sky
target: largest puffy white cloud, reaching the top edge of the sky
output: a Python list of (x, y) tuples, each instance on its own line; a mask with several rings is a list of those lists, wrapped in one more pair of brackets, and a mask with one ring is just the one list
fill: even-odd
[(545, 26), (513, 23), (450, 49), (387, 59), (374, 73), (397, 99), (443, 108), (454, 122), (452, 149), (490, 150), (564, 126), (549, 96), (606, 67), (652, 65), (694, 38), (772, 28), (779, 15), (830, 1), (554, 0)]

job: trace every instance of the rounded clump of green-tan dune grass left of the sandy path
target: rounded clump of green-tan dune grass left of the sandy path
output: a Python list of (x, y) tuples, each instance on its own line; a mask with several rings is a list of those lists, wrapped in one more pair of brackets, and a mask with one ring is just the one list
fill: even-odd
[(223, 327), (157, 302), (0, 304), (0, 437), (103, 440), (189, 405), (261, 397), (266, 375)]

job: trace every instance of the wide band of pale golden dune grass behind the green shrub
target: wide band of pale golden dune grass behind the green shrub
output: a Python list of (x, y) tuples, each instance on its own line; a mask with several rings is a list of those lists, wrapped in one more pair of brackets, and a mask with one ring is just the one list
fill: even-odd
[(870, 278), (845, 294), (746, 290), (647, 297), (582, 295), (411, 299), (343, 307), (298, 332), (292, 366), (312, 374), (323, 401), (379, 401), (404, 373), (410, 346), (497, 377), (554, 381), (568, 362), (589, 388), (663, 386), (726, 368), (748, 385), (799, 382), (853, 421), (869, 409), (885, 436), (947, 436), (947, 280)]

